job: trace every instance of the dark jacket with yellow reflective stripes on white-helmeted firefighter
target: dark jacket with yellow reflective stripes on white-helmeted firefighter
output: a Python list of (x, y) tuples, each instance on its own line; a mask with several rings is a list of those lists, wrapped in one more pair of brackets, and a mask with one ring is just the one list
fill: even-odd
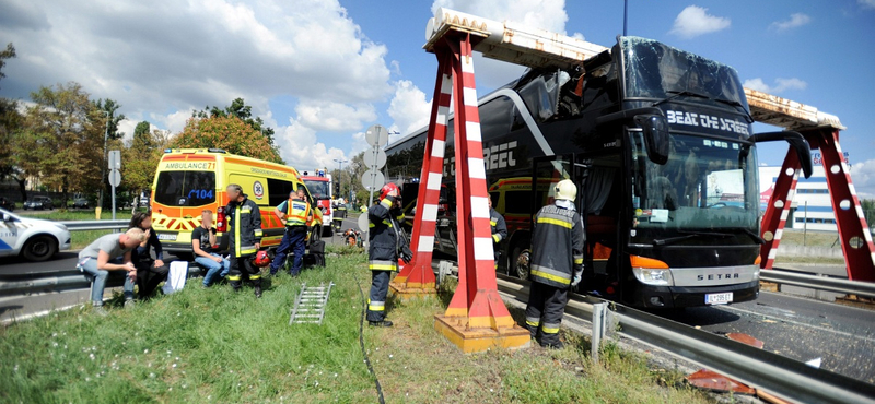
[(535, 215), (532, 237), (533, 282), (569, 287), (583, 265), (583, 221), (578, 212), (556, 205)]

